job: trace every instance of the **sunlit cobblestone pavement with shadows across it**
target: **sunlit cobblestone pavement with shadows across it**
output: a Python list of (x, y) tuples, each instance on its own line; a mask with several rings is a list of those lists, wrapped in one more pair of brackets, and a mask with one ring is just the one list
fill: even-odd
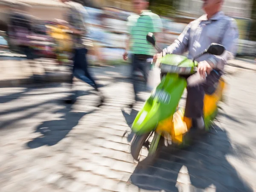
[(62, 102), (64, 84), (1, 88), (0, 192), (256, 191), (255, 72), (226, 79), (215, 130), (186, 150), (164, 149), (146, 169), (129, 154), (131, 134), (122, 138), (143, 105), (125, 108), (128, 80), (99, 81), (107, 98), (101, 108), (82, 82), (73, 106)]

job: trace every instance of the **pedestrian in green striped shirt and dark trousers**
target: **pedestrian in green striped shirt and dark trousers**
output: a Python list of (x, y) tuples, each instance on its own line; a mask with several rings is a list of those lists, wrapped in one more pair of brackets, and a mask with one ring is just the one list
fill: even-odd
[[(140, 70), (143, 73), (145, 82), (147, 82), (150, 63), (146, 60), (152, 58), (156, 53), (154, 47), (147, 42), (146, 35), (148, 32), (154, 33), (156, 41), (160, 39), (162, 32), (162, 22), (157, 14), (148, 9), (148, 0), (133, 0), (134, 12), (136, 14), (128, 17), (129, 37), (126, 42), (125, 53), (123, 58), (128, 60), (128, 53), (131, 54), (132, 81), (134, 86), (135, 102), (140, 100), (137, 96), (137, 81), (134, 72)], [(130, 105), (131, 107), (133, 104)]]

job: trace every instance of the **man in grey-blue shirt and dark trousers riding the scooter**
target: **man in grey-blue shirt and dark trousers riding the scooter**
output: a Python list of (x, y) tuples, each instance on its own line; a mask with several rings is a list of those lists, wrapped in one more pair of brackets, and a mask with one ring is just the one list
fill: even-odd
[[(220, 11), (223, 2), (224, 0), (203, 0), (202, 9), (206, 14), (189, 23), (172, 45), (154, 55), (156, 61), (157, 58), (166, 54), (181, 55), (188, 51), (188, 58), (193, 58), (212, 43), (221, 44), (226, 48), (221, 56), (206, 54), (196, 59), (198, 61), (198, 73), (201, 78), (204, 78), (204, 81), (187, 87), (185, 117), (192, 119), (192, 126), (198, 131), (205, 130), (204, 94), (212, 93), (212, 89), (218, 84), (227, 60), (234, 58), (236, 54), (236, 41), (239, 33), (235, 20), (225, 16)], [(189, 79), (195, 78), (196, 75), (190, 76)]]

